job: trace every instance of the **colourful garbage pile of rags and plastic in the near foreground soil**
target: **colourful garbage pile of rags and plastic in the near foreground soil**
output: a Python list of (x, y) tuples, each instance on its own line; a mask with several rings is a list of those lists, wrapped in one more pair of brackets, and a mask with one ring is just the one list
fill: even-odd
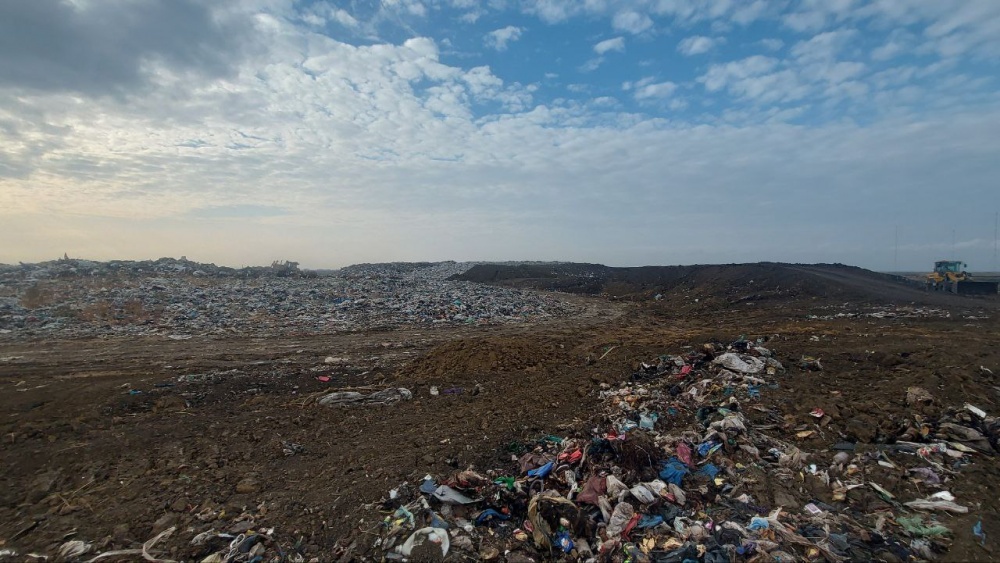
[[(802, 376), (766, 343), (660, 356), (628, 381), (601, 384), (600, 412), (569, 436), (511, 444), (499, 470), (401, 484), (345, 557), (726, 563), (947, 553), (948, 515), (973, 500), (949, 484), (998, 449), (997, 419), (966, 405), (933, 420), (914, 414), (892, 444), (806, 451), (802, 442), (830, 417), (815, 408), (812, 423), (794, 425), (764, 406), (782, 378)], [(914, 407), (934, 402), (923, 389), (907, 395)]]

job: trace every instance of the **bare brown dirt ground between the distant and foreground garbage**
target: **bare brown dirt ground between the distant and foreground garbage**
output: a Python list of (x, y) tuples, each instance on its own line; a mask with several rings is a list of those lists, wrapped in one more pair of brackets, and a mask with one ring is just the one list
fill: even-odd
[[(836, 317), (877, 309), (815, 297), (696, 304), (685, 291), (661, 301), (566, 295), (586, 313), (533, 326), (0, 341), (0, 550), (28, 560), (68, 539), (129, 549), (178, 526), (160, 547), (200, 560), (208, 552), (190, 544), (195, 534), (252, 526), (275, 528), (286, 550), (307, 559), (335, 560), (350, 543), (362, 558), (367, 531), (384, 516), (378, 501), (400, 483), (469, 466), (510, 472), (507, 445), (585, 425), (599, 383), (627, 379), (642, 360), (740, 335), (770, 338), (788, 366), (821, 359), (822, 371), (791, 369), (765, 390), (757, 421), (791, 432), (822, 408), (831, 422), (801, 444), (821, 458), (844, 439), (872, 449), (891, 442), (915, 413), (966, 402), (1000, 413), (1000, 382), (989, 373), (1000, 375), (996, 300), (936, 296), (933, 307), (893, 309), (911, 316)], [(414, 399), (314, 401), (390, 385)], [(914, 385), (935, 406), (907, 406)], [(432, 396), (432, 386), (442, 392)], [(1000, 464), (973, 460), (948, 488), (969, 514), (940, 516), (954, 530), (946, 561), (1000, 557)], [(899, 471), (866, 470), (900, 498), (920, 496)], [(873, 498), (870, 510), (886, 509)], [(979, 520), (985, 547), (971, 531)]]

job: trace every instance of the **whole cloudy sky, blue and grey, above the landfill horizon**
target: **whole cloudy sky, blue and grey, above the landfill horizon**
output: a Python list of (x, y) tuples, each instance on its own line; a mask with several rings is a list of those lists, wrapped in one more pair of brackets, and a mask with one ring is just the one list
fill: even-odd
[(0, 262), (987, 270), (998, 77), (997, 0), (0, 2)]

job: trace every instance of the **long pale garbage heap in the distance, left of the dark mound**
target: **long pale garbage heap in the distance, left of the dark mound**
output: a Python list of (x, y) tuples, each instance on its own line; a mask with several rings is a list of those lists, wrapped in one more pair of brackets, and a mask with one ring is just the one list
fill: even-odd
[[(366, 264), (306, 276), (170, 259), (0, 268), (0, 337), (314, 334), (561, 316), (549, 296), (447, 278), (469, 264)], [(253, 275), (251, 275), (253, 274)]]

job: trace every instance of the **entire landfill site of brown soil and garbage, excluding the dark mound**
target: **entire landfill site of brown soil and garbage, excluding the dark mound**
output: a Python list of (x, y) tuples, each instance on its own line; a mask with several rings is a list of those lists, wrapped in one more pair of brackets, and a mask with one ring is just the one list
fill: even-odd
[(0, 561), (996, 558), (990, 302), (466, 267), (0, 267)]

